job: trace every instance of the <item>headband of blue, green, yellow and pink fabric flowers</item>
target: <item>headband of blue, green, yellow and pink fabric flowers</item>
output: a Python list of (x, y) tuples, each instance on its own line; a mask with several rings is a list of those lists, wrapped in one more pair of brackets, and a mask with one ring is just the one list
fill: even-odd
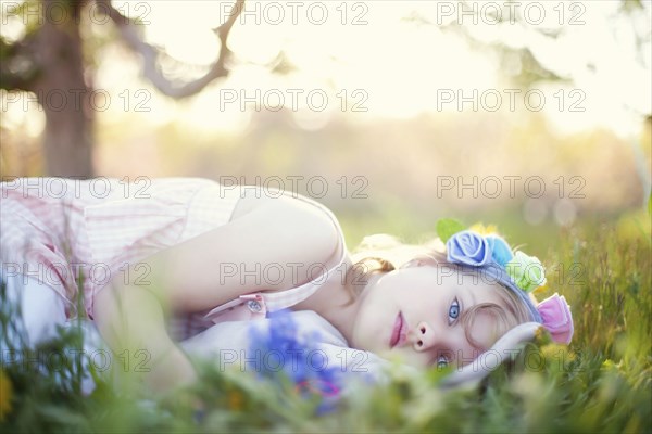
[(554, 342), (570, 343), (573, 316), (566, 298), (554, 293), (534, 306), (528, 296), (547, 282), (546, 269), (537, 257), (521, 251), (512, 252), (507, 242), (491, 229), (477, 226), (467, 230), (454, 219), (439, 220), (437, 234), (446, 243), (450, 263), (492, 275), (530, 309), (532, 318), (550, 332)]

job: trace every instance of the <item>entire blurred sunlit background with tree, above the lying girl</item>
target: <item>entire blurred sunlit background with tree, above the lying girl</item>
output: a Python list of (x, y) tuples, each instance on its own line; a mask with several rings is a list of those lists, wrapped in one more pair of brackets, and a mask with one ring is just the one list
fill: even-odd
[(541, 256), (582, 219), (649, 225), (648, 1), (248, 0), (228, 38), (233, 1), (0, 4), (2, 177), (285, 187), (349, 247), (450, 216)]

